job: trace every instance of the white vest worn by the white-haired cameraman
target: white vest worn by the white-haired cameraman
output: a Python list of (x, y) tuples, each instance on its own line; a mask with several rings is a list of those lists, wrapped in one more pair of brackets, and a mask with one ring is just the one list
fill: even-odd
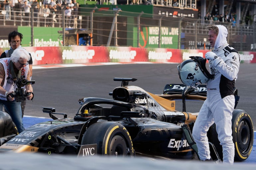
[[(11, 72), (10, 72), (10, 61), (11, 61), (11, 58), (0, 59), (0, 63), (3, 64), (4, 71), (5, 71), (5, 80), (3, 80), (4, 81), (3, 88), (7, 91), (15, 91), (17, 88), (17, 85), (15, 85), (12, 75), (11, 75)], [(24, 67), (21, 70), (21, 75), (25, 76), (25, 79), (27, 79), (28, 72), (29, 72), (29, 65), (27, 65), (26, 67)], [(0, 99), (7, 100), (6, 96), (4, 96), (2, 94), (0, 94)]]

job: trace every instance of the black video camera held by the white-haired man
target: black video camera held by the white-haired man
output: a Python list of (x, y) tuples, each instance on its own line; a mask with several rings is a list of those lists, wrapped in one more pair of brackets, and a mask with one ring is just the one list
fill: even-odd
[(31, 92), (25, 92), (25, 89), (22, 88), (24, 85), (33, 85), (36, 81), (28, 81), (25, 79), (25, 76), (20, 76), (14, 83), (17, 85), (16, 90), (13, 93), (10, 93), (12, 97), (15, 97), (16, 102), (22, 102), (26, 100), (25, 97), (29, 96)]

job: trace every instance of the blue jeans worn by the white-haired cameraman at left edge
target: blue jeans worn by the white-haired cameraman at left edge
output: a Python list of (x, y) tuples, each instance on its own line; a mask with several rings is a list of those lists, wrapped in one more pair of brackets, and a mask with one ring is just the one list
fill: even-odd
[(23, 132), (25, 128), (22, 121), (21, 102), (0, 100), (0, 104), (4, 105), (5, 110), (12, 117), (12, 121), (15, 123), (18, 132)]

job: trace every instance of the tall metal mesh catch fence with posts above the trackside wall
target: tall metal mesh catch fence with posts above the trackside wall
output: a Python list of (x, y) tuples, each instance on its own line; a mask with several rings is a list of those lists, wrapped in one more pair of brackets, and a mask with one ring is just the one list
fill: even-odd
[[(256, 49), (254, 25), (232, 26), (232, 23), (209, 23), (200, 19), (125, 12), (120, 9), (104, 10), (97, 7), (79, 7), (79, 12), (72, 13), (70, 18), (65, 16), (64, 10), (47, 15), (43, 8), (31, 9), (29, 14), (23, 11), (11, 11), (9, 15), (11, 18), (6, 20), (6, 14), (0, 14), (0, 26), (59, 27), (63, 28), (63, 34), (66, 33), (66, 28), (86, 28), (91, 30), (92, 45), (97, 46), (143, 47), (143, 43), (149, 42), (149, 39), (145, 39), (145, 37), (148, 38), (146, 34), (153, 31), (154, 40), (158, 42), (152, 47), (210, 49), (206, 27), (209, 24), (222, 24), (228, 29), (228, 42), (231, 46), (239, 51), (255, 51)], [(148, 28), (154, 29), (143, 32)], [(172, 39), (172, 44), (177, 44), (175, 47), (161, 43), (163, 40), (161, 28), (178, 28), (178, 34), (175, 34), (177, 38)], [(42, 35), (45, 33), (47, 32), (42, 32)]]

